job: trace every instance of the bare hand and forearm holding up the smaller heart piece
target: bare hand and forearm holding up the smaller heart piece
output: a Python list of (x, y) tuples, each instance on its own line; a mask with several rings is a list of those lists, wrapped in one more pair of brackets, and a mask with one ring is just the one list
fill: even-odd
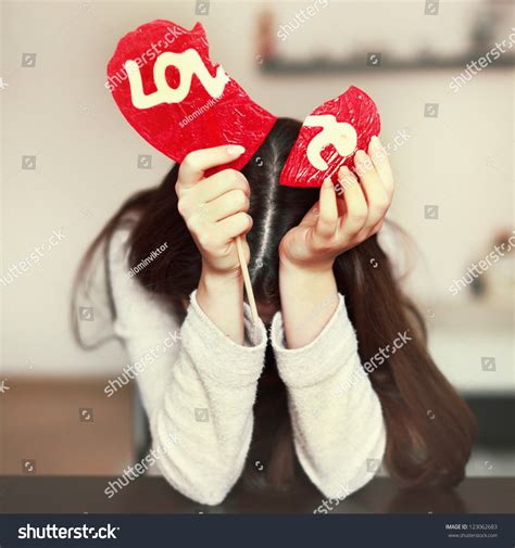
[(354, 164), (360, 180), (347, 167), (336, 186), (326, 179), (319, 201), (280, 242), (279, 292), (290, 348), (313, 341), (327, 323), (336, 309), (335, 258), (378, 232), (391, 204), (393, 177), (377, 137), (368, 154), (357, 151)]

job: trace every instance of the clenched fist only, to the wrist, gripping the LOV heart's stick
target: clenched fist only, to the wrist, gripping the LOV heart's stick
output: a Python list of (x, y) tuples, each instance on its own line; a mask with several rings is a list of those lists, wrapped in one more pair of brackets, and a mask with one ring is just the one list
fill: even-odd
[[(204, 177), (209, 168), (235, 161), (243, 146), (229, 144), (190, 152), (180, 164), (175, 191), (178, 211), (202, 255), (202, 268), (215, 275), (239, 272), (235, 239), (252, 228), (250, 187), (235, 169)], [(243, 242), (247, 262), (249, 245)]]

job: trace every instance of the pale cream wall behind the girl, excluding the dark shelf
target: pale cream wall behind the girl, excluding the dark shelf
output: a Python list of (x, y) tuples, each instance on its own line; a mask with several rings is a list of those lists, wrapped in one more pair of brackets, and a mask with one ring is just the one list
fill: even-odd
[[(277, 26), (309, 4), (273, 3)], [(290, 56), (314, 46), (332, 54), (369, 49), (405, 56), (424, 47), (451, 53), (466, 46), (474, 5), (445, 2), (438, 16), (425, 16), (418, 1), (330, 2), (279, 47)], [(1, 273), (66, 227), (66, 238), (38, 265), (0, 285), (4, 374), (100, 374), (125, 364), (117, 344), (88, 354), (76, 348), (67, 307), (72, 276), (87, 244), (126, 196), (158, 183), (169, 167), (127, 125), (104, 88), (117, 39), (153, 18), (189, 28), (202, 21), (212, 59), (277, 115), (302, 118), (349, 85), (375, 98), (384, 141), (402, 128), (413, 136), (392, 156), (398, 192), (391, 217), (425, 257), (415, 279), (417, 294), (427, 303), (455, 305), (465, 298), (451, 297), (452, 280), (478, 250), (488, 250), (493, 232), (513, 228), (513, 71), (486, 68), (459, 93), (449, 89), (452, 71), (264, 77), (254, 50), (262, 7), (213, 1), (209, 16), (197, 17), (194, 2), (3, 4), (0, 74), (9, 87), (0, 91)], [(21, 67), (24, 52), (37, 53), (34, 68)], [(426, 102), (440, 104), (438, 118), (424, 117)], [(152, 154), (151, 170), (137, 168), (141, 153)], [(22, 155), (36, 155), (37, 169), (22, 170)], [(439, 220), (424, 219), (425, 204), (439, 205)]]

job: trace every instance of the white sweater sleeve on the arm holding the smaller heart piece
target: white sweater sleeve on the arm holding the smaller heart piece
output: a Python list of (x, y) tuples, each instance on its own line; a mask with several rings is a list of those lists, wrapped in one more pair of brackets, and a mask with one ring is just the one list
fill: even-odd
[(343, 297), (321, 334), (302, 348), (286, 348), (282, 317), (276, 314), (272, 346), (288, 390), (299, 460), (325, 496), (343, 499), (374, 476), (386, 445), (379, 398), (361, 366)]

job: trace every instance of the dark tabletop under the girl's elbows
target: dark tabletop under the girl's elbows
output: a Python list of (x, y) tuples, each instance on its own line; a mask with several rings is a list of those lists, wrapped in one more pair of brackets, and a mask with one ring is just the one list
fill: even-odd
[[(113, 477), (3, 476), (2, 513), (312, 513), (324, 497), (305, 486), (289, 493), (256, 493), (237, 485), (216, 507), (199, 505), (158, 476), (138, 477), (111, 499)], [(455, 489), (400, 488), (376, 477), (348, 497), (332, 513), (513, 513), (515, 479), (473, 477)]]

